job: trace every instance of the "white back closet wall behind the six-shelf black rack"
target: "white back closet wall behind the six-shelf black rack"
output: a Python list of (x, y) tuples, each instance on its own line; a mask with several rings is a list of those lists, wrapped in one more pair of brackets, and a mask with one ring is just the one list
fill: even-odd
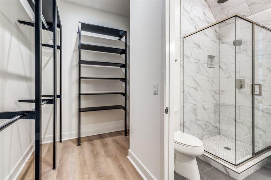
[[(129, 18), (117, 16), (88, 7), (71, 4), (64, 1), (57, 1), (62, 23), (62, 43), (63, 43), (63, 140), (77, 138), (78, 136), (78, 22), (87, 22), (100, 26), (107, 26), (115, 29), (128, 31), (129, 37)], [(48, 36), (48, 35), (47, 35)], [(92, 44), (114, 44), (118, 47), (124, 47), (123, 42), (106, 41), (102, 38), (88, 38), (82, 36), (82, 41), (91, 42)], [(50, 42), (50, 41), (49, 41)], [(128, 38), (129, 44), (129, 38)], [(129, 47), (129, 46), (128, 46)], [(48, 48), (47, 48), (48, 49)], [(52, 53), (45, 53), (43, 48), (43, 58), (51, 59)], [(50, 51), (46, 50), (46, 51)], [(83, 60), (103, 60), (111, 62), (124, 62), (120, 55), (110, 55), (95, 52), (82, 52)], [(44, 68), (51, 68), (52, 64), (48, 63)], [(82, 76), (114, 76), (124, 77), (124, 69), (106, 68), (106, 67), (83, 67), (81, 68)], [(50, 73), (46, 73), (49, 78)], [(45, 76), (45, 74), (43, 74)], [(51, 78), (51, 77), (50, 77)], [(48, 89), (49, 88), (49, 89)], [(43, 89), (43, 94), (50, 92), (50, 86)], [(122, 82), (118, 81), (81, 81), (81, 90), (84, 92), (93, 91), (124, 91)], [(51, 88), (52, 92), (52, 88)], [(124, 104), (122, 95), (95, 95), (81, 97), (81, 107), (110, 106)], [(45, 110), (44, 110), (45, 112)], [(59, 115), (59, 112), (57, 112)], [(44, 142), (52, 141), (52, 109), (48, 107), (45, 118), (49, 119), (43, 123)], [(51, 117), (50, 117), (51, 116)], [(46, 128), (48, 127), (48, 128)], [(45, 129), (46, 128), (46, 129)], [(124, 129), (124, 111), (108, 110), (81, 113), (81, 136), (90, 136)], [(57, 123), (57, 132), (59, 124)], [(59, 134), (59, 133), (57, 133)], [(57, 136), (57, 140), (59, 137)]]

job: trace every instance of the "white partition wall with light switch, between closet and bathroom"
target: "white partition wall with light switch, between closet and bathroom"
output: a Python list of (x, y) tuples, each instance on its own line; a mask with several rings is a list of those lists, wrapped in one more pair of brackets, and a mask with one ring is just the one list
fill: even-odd
[[(146, 179), (163, 179), (165, 1), (130, 3), (129, 159)], [(158, 95), (152, 85), (158, 82)]]

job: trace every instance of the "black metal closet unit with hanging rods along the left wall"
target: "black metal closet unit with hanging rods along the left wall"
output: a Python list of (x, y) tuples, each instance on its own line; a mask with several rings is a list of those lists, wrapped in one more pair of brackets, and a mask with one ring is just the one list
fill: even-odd
[[(10, 119), (1, 125), (1, 131), (20, 119), (35, 119), (35, 179), (42, 175), (42, 105), (53, 104), (53, 169), (56, 169), (56, 116), (57, 98), (60, 99), (60, 142), (62, 142), (62, 29), (56, 0), (28, 0), (35, 14), (34, 22), (18, 20), (19, 24), (35, 28), (35, 99), (18, 100), (24, 103), (35, 103), (35, 108), (26, 111), (0, 112), (1, 119)], [(59, 45), (57, 45), (57, 28), (59, 29)], [(42, 44), (42, 30), (53, 32), (53, 44)], [(42, 46), (53, 49), (53, 95), (42, 95)], [(59, 49), (60, 94), (57, 95), (57, 49)]]

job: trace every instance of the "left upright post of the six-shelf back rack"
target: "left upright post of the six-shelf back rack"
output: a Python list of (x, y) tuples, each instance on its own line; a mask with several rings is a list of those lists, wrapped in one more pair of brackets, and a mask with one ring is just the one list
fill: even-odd
[(78, 57), (79, 57), (79, 62), (78, 62), (78, 146), (81, 145), (81, 135), (80, 135), (80, 132), (81, 132), (81, 112), (80, 112), (80, 109), (81, 109), (81, 96), (80, 96), (80, 93), (81, 93), (81, 63), (80, 63), (80, 60), (81, 60), (81, 22), (79, 22), (79, 26), (78, 26), (78, 49), (79, 49), (79, 52), (78, 52)]

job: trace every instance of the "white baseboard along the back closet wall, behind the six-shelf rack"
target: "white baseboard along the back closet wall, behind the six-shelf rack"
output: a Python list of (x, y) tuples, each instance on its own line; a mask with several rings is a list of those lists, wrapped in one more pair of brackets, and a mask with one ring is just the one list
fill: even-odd
[[(124, 130), (124, 125), (107, 127), (107, 128), (99, 128), (99, 129), (91, 129), (91, 130), (81, 131), (81, 137), (111, 133), (111, 132), (122, 131), (122, 130)], [(62, 134), (62, 140), (70, 140), (70, 139), (75, 139), (75, 138), (78, 138), (77, 131)], [(57, 134), (57, 141), (59, 141), (59, 134)], [(42, 144), (51, 143), (51, 142), (53, 142), (53, 135), (42, 137)]]

